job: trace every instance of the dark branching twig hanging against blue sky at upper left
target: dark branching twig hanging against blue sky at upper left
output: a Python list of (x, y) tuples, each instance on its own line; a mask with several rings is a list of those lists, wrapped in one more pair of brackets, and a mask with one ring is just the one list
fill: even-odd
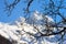
[(6, 4), (6, 11), (8, 12), (12, 12), (12, 10), (14, 9), (14, 7), (20, 2), (20, 0), (14, 0), (13, 3), (8, 4), (7, 0), (4, 0), (4, 4)]

